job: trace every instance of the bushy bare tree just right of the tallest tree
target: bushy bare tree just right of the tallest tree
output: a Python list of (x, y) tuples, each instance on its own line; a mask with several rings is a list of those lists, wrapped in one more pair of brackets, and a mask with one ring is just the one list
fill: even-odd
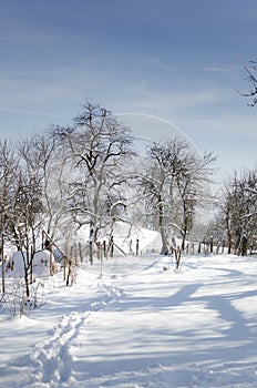
[(161, 233), (162, 254), (167, 254), (171, 245), (175, 248), (172, 235), (179, 236), (181, 248), (185, 248), (196, 206), (206, 196), (203, 186), (209, 181), (214, 160), (212, 153), (201, 159), (177, 137), (148, 147), (146, 170), (140, 181), (147, 207), (152, 207), (148, 213)]

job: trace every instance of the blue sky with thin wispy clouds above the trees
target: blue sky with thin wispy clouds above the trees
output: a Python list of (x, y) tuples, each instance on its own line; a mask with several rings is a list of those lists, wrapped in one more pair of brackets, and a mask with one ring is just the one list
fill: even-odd
[[(217, 154), (256, 166), (256, 0), (0, 0), (0, 133), (71, 124), (86, 99), (158, 116)], [(155, 133), (153, 133), (153, 139)]]

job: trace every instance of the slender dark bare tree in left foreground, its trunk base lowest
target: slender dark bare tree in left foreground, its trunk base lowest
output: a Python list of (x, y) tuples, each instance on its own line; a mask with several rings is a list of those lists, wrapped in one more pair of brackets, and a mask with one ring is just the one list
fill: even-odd
[(53, 147), (54, 144), (41, 135), (30, 136), (17, 146), (19, 165), (9, 224), (10, 237), (23, 262), (27, 296), (33, 282), (33, 258), (40, 246), (42, 229), (51, 219), (47, 187)]

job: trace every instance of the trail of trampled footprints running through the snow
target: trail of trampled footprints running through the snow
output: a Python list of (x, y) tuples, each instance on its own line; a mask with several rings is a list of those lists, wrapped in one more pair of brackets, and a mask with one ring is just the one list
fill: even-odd
[[(68, 382), (72, 377), (72, 344), (79, 336), (80, 328), (90, 324), (91, 312), (102, 310), (124, 295), (113, 286), (100, 284), (97, 288), (102, 297), (91, 303), (83, 313), (72, 312), (63, 316), (49, 338), (35, 345), (30, 355), (30, 360), (34, 365), (34, 371), (29, 381), (30, 387), (42, 387), (43, 384), (60, 387), (60, 382)], [(22, 386), (27, 387), (28, 382)]]

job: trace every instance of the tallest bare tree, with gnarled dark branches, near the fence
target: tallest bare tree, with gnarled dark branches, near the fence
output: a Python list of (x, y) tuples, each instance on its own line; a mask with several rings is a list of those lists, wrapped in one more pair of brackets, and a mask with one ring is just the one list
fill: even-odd
[(90, 102), (74, 122), (73, 129), (55, 134), (69, 150), (65, 163), (72, 165), (70, 211), (79, 227), (90, 225), (90, 242), (96, 244), (101, 228), (112, 225), (125, 207), (123, 167), (133, 155), (133, 139), (111, 112)]

